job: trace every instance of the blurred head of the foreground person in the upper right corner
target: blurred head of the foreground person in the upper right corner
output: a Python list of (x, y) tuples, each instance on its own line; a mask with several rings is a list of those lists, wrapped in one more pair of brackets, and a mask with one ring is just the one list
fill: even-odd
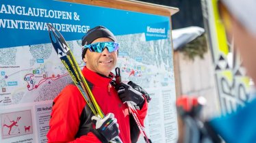
[(220, 0), (218, 5), (227, 36), (234, 39), (248, 76), (256, 82), (256, 1)]

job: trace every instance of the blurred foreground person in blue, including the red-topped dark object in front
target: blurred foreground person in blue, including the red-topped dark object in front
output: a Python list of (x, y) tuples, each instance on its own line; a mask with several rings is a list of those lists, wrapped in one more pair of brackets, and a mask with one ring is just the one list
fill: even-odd
[[(256, 82), (256, 1), (219, 0), (218, 9), (228, 39), (240, 52), (248, 76)], [(231, 40), (230, 40), (231, 41)], [(202, 122), (199, 98), (177, 99), (177, 111), (183, 120), (183, 143), (254, 143), (256, 142), (256, 99), (238, 108), (236, 112), (210, 118)]]

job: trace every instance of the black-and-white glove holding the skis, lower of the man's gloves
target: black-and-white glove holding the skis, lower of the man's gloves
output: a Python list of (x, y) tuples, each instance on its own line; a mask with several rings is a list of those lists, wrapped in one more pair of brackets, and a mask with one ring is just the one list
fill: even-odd
[(107, 114), (103, 119), (92, 116), (92, 123), (96, 125), (95, 129), (91, 130), (92, 133), (103, 143), (110, 142), (120, 132), (118, 129), (119, 125), (113, 113)]

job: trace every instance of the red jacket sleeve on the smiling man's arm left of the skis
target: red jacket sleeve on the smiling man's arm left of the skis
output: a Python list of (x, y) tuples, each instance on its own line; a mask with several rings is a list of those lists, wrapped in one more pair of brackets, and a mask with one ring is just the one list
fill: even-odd
[(92, 132), (75, 138), (80, 124), (80, 115), (86, 101), (74, 85), (68, 85), (53, 101), (48, 142), (101, 142)]

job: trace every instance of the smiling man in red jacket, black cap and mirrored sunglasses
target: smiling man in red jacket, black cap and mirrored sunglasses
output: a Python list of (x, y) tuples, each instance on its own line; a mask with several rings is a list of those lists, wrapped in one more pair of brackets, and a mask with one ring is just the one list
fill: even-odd
[(48, 142), (110, 142), (119, 136), (123, 142), (137, 142), (138, 127), (129, 115), (126, 101), (139, 106), (142, 121), (146, 116), (147, 102), (144, 95), (131, 86), (121, 83), (116, 89), (112, 69), (116, 66), (118, 43), (113, 33), (105, 27), (94, 27), (82, 38), (82, 70), (101, 110), (101, 119), (93, 116), (86, 106), (77, 86), (69, 84), (53, 101)]

